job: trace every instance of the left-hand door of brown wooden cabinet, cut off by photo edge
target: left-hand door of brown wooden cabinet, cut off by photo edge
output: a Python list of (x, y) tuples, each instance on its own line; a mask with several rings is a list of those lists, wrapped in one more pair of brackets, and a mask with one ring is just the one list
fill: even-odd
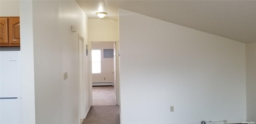
[(8, 26), (7, 26), (7, 18), (0, 19), (0, 43), (5, 44), (8, 43)]

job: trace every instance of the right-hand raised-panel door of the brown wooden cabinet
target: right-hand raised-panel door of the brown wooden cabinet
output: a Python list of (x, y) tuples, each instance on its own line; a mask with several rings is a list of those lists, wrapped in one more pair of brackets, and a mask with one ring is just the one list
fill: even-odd
[(9, 19), (9, 43), (20, 43), (20, 18)]

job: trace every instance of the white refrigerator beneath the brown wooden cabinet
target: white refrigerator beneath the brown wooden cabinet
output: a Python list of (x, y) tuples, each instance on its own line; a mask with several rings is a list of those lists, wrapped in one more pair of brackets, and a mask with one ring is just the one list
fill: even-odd
[(22, 124), (20, 51), (0, 51), (0, 124)]

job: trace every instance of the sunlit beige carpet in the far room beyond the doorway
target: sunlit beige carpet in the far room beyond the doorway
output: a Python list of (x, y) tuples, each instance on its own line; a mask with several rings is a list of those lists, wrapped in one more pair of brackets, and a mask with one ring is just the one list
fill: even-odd
[(114, 86), (93, 86), (92, 105), (115, 105)]

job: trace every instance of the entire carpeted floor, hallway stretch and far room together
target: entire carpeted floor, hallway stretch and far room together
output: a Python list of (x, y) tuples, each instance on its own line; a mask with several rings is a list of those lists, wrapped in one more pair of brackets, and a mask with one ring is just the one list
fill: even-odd
[(114, 86), (92, 87), (92, 105), (82, 124), (120, 124)]

